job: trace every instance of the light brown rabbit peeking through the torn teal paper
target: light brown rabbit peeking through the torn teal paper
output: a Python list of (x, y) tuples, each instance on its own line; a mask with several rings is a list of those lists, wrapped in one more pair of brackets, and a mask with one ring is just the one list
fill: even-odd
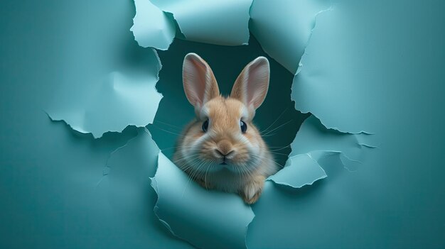
[(206, 189), (259, 199), (264, 181), (278, 167), (252, 123), (269, 89), (269, 61), (257, 57), (237, 77), (230, 96), (220, 95), (205, 60), (189, 53), (183, 61), (183, 88), (195, 120), (178, 139), (173, 162)]

